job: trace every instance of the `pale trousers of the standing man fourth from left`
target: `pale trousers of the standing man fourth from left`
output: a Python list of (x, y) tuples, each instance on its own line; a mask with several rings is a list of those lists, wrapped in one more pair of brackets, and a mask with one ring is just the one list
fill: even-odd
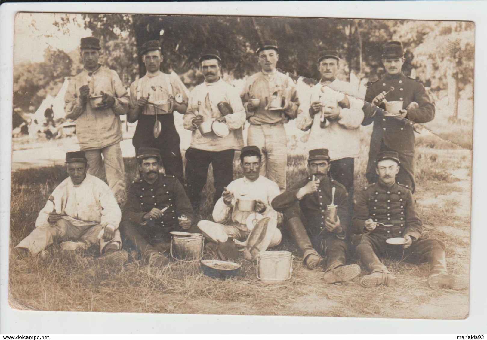
[(283, 124), (250, 125), (247, 145), (255, 145), (262, 152), (261, 175), (286, 190), (287, 137)]

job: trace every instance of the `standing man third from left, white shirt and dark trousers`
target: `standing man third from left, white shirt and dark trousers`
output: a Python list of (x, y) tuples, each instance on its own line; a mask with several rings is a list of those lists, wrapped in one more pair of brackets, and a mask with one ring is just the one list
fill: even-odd
[[(238, 91), (220, 77), (221, 61), (218, 51), (203, 52), (200, 63), (205, 82), (191, 91), (184, 116), (184, 127), (193, 131), (186, 151), (186, 179), (194, 211), (201, 207), (201, 191), (209, 164), (213, 164), (215, 183), (213, 206), (213, 202), (222, 196), (223, 188), (233, 180), (235, 150), (244, 146), (245, 109)], [(224, 131), (211, 129), (210, 124), (215, 121), (221, 123)]]

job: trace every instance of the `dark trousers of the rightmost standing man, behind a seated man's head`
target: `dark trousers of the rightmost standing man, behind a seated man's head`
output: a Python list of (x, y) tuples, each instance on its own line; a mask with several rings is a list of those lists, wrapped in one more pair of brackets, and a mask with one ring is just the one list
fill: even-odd
[[(394, 151), (398, 153), (399, 161), (401, 162), (401, 164), (399, 165), (399, 172), (395, 177), (396, 182), (407, 185), (408, 188), (411, 189), (411, 192), (414, 194), (414, 155), (406, 155), (398, 150), (393, 150), (389, 146), (387, 146), (384, 141), (382, 141), (380, 144), (380, 151)], [(373, 157), (375, 158), (376, 155)], [(375, 172), (375, 169), (375, 159), (371, 159), (371, 155), (369, 155), (369, 163), (367, 164), (366, 173), (366, 177), (369, 183), (376, 183), (379, 179), (377, 173)]]

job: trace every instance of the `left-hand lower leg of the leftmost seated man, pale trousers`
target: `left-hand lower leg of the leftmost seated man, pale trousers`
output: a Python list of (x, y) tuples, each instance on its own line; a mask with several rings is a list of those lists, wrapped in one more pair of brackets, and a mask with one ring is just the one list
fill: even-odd
[(51, 246), (54, 241), (64, 240), (66, 229), (69, 228), (69, 226), (70, 223), (61, 218), (53, 225), (38, 227), (26, 238), (20, 241), (15, 248), (27, 249), (32, 256), (36, 256), (39, 252)]

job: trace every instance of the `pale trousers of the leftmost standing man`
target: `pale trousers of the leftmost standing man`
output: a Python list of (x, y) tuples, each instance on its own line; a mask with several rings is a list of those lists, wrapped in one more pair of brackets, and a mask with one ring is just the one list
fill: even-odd
[(119, 204), (122, 203), (125, 199), (125, 167), (120, 143), (101, 149), (86, 150), (85, 154), (90, 165), (88, 173), (99, 179), (103, 179), (105, 175), (113, 196)]

